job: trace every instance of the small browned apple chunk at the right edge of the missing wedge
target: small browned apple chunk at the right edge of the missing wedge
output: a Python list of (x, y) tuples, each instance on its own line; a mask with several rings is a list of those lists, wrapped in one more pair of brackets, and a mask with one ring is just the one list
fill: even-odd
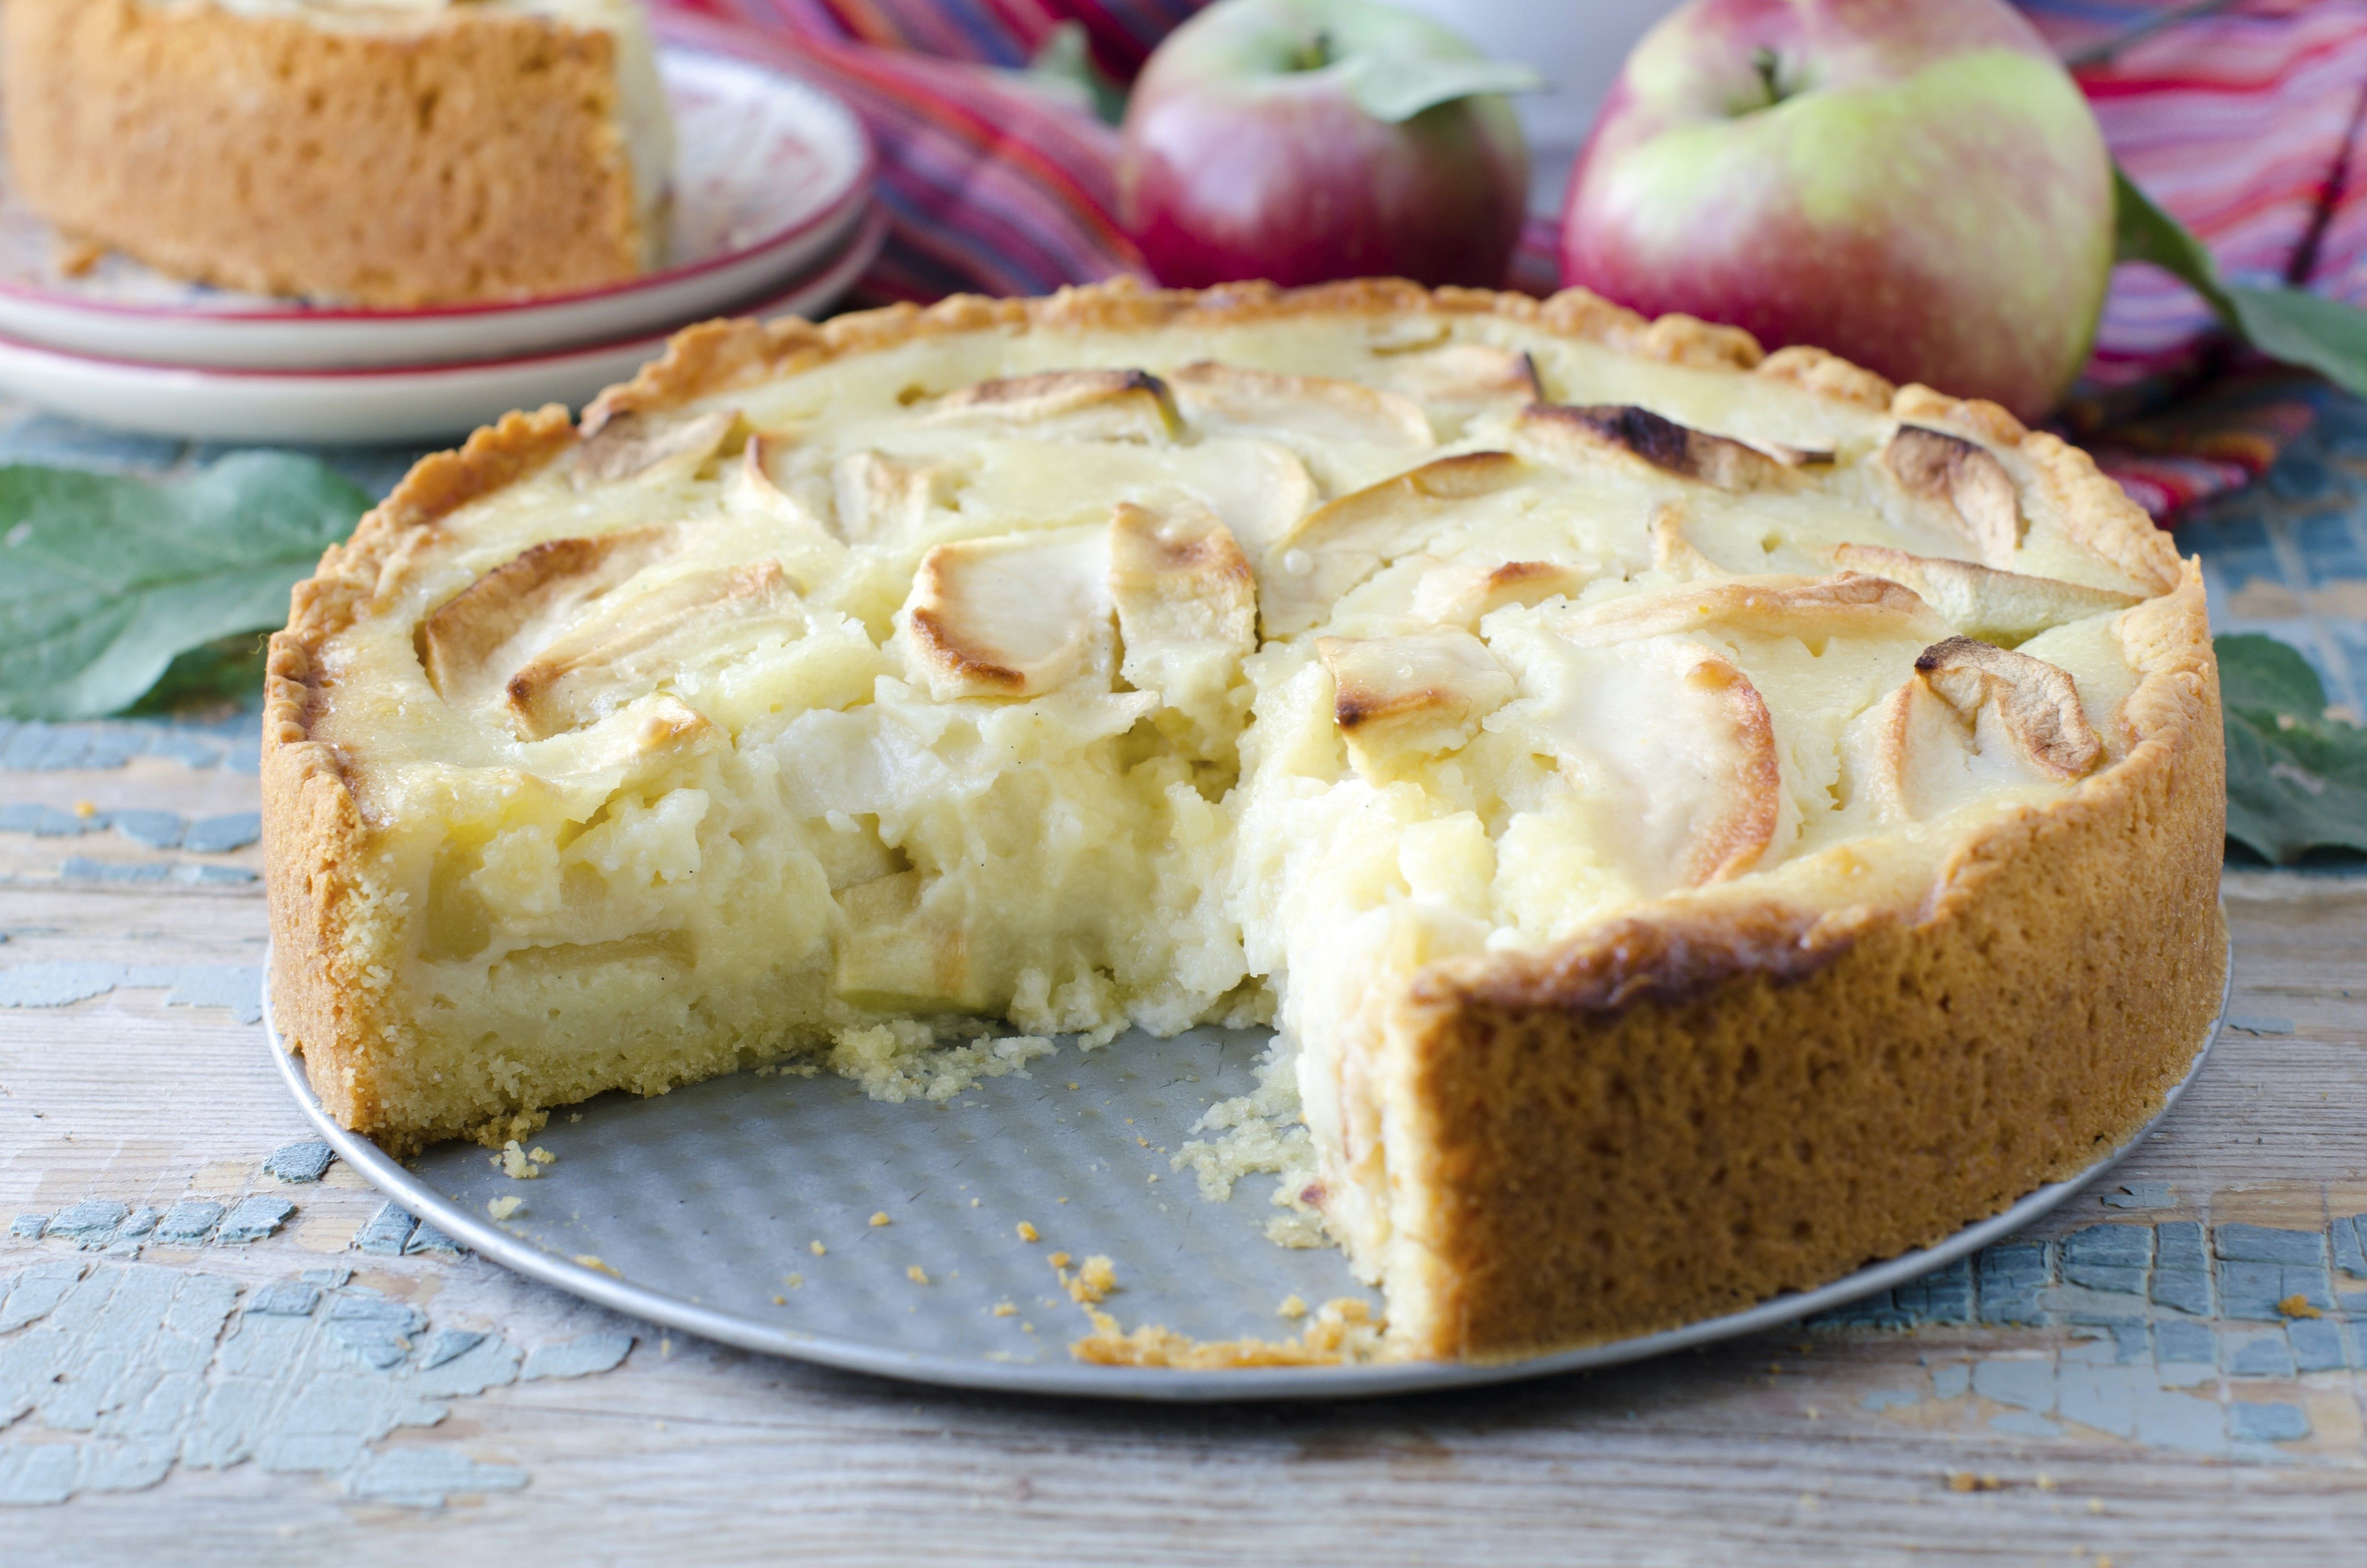
[(1316, 658), (1333, 677), (1349, 760), (1370, 779), (1463, 746), (1513, 699), (1513, 677), (1470, 632), (1318, 637)]

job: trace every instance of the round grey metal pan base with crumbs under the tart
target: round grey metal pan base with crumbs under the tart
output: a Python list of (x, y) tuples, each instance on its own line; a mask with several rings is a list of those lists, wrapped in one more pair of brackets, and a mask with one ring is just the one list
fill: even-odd
[[(881, 1104), (843, 1078), (757, 1073), (658, 1099), (604, 1094), (554, 1116), (530, 1142), (556, 1163), (514, 1182), (464, 1142), (409, 1165), (388, 1158), (322, 1111), (272, 1026), (267, 990), (263, 1023), (296, 1104), (348, 1165), (521, 1274), (746, 1350), (923, 1383), (1117, 1400), (1333, 1400), (1508, 1383), (1827, 1312), (2002, 1241), (2076, 1194), (2171, 1113), (2218, 1037), (2213, 1023), (2161, 1111), (2081, 1175), (1818, 1291), (1520, 1362), (1172, 1371), (1072, 1360), (1068, 1343), (1086, 1322), (1049, 1255), (1108, 1253), (1120, 1289), (1103, 1307), (1127, 1329), (1167, 1324), (1193, 1338), (1288, 1338), (1295, 1326), (1276, 1317), (1285, 1296), (1363, 1296), (1340, 1253), (1266, 1241), (1273, 1208), (1262, 1187), (1271, 1177), (1243, 1180), (1217, 1203), (1169, 1163), (1200, 1111), (1252, 1087), (1266, 1030), (1063, 1047), (1027, 1078), (980, 1082), (949, 1104)], [(521, 1203), (504, 1222), (488, 1213), (499, 1199)], [(873, 1213), (890, 1222), (873, 1225)], [(1025, 1241), (1020, 1222), (1039, 1241)]]

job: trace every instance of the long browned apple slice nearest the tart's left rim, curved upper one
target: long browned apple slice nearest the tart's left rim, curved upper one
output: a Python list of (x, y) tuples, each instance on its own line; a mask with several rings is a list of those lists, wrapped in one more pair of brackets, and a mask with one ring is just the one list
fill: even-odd
[(578, 606), (660, 559), (667, 540), (667, 528), (623, 528), (542, 540), (502, 561), (419, 623), (412, 642), (428, 685), (452, 703), (483, 696), (499, 677), (502, 649), (549, 635)]

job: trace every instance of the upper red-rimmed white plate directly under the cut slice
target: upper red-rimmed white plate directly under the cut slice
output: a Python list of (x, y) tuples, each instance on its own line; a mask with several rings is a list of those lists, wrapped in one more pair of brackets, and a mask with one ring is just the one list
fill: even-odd
[(615, 343), (783, 289), (845, 246), (871, 142), (836, 97), (710, 50), (663, 47), (675, 109), (672, 263), (627, 284), (502, 306), (357, 310), (189, 284), (109, 253), (57, 268), (57, 232), (0, 173), (0, 334), (151, 365), (346, 369)]

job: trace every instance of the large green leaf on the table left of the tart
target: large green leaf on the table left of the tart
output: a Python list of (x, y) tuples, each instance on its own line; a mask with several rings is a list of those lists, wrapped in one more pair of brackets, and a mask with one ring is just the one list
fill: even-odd
[(178, 654), (279, 625), (289, 587), (367, 509), (357, 486), (286, 452), (163, 486), (0, 467), (0, 715), (116, 713)]

